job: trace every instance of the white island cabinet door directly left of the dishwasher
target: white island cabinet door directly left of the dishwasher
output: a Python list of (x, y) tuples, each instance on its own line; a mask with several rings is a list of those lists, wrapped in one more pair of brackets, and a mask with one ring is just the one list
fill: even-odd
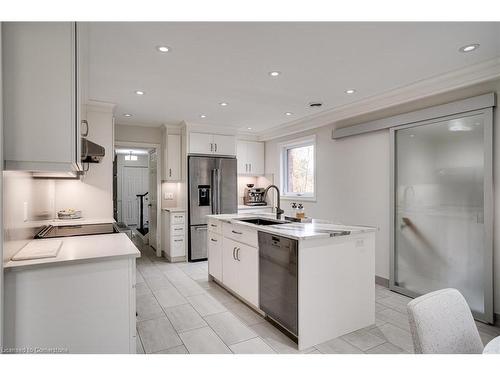
[(259, 306), (259, 251), (255, 247), (237, 244), (237, 292), (254, 306)]

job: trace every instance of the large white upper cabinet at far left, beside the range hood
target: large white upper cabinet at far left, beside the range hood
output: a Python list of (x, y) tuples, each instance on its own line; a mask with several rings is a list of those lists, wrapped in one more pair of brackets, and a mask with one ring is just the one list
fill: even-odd
[(76, 23), (3, 22), (2, 44), (5, 169), (76, 176), (82, 170)]

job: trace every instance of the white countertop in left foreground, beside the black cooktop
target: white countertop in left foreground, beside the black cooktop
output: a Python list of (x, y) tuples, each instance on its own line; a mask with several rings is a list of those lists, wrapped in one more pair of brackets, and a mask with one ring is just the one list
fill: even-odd
[[(74, 222), (72, 220), (71, 222)], [(99, 221), (102, 223), (102, 221)], [(59, 237), (32, 241), (62, 241), (59, 253), (54, 258), (10, 260), (4, 263), (5, 270), (26, 267), (41, 267), (70, 262), (99, 261), (117, 257), (138, 258), (139, 250), (125, 233), (99, 234), (94, 236)]]

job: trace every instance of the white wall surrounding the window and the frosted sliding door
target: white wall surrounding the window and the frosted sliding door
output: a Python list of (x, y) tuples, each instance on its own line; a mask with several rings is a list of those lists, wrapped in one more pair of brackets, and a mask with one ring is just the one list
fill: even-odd
[[(487, 92), (500, 96), (500, 81), (475, 85), (467, 89), (436, 95), (419, 102), (358, 118), (346, 119), (342, 125), (384, 118), (398, 113), (439, 105)], [(496, 111), (495, 111), (496, 112)], [(279, 180), (279, 143), (310, 134), (317, 135), (317, 200), (304, 202), (306, 214), (346, 224), (372, 225), (379, 228), (376, 236), (376, 275), (389, 278), (389, 131), (382, 130), (340, 140), (331, 139), (331, 131), (339, 124), (297, 133), (266, 142), (266, 174)], [(495, 114), (494, 128), (500, 126)], [(500, 312), (500, 131), (494, 133), (495, 227), (494, 284), (495, 311)], [(294, 201), (298, 201), (294, 199)], [(282, 200), (289, 208), (290, 201)]]

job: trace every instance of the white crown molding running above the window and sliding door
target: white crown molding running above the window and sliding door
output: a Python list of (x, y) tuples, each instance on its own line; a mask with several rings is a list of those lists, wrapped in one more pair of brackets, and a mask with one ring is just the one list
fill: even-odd
[(500, 57), (440, 74), (413, 84), (383, 92), (366, 99), (349, 103), (316, 115), (259, 132), (258, 138), (267, 141), (286, 135), (330, 125), (336, 121), (360, 116), (369, 112), (389, 108), (427, 98), (436, 94), (472, 86), (500, 77)]

